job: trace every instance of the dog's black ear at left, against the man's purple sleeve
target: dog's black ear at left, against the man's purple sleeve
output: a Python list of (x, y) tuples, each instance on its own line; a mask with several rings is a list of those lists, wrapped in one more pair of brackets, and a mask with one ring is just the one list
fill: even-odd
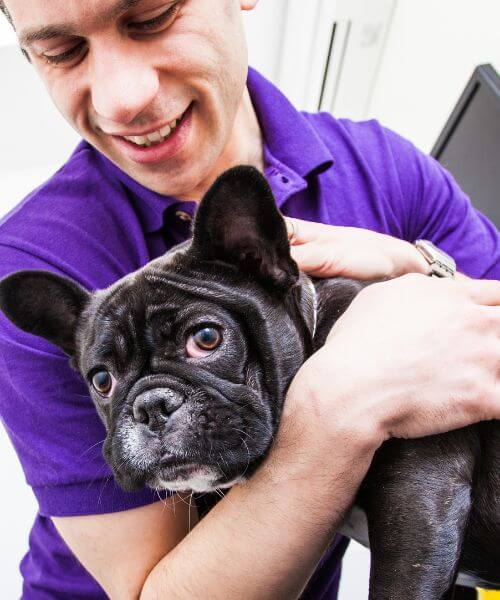
[(17, 327), (75, 354), (75, 330), (91, 294), (50, 271), (17, 271), (0, 281), (0, 310)]

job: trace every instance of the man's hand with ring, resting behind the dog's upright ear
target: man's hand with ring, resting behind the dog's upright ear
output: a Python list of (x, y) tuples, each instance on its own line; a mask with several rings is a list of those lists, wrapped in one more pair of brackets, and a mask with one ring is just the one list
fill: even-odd
[(368, 229), (335, 227), (285, 217), (293, 259), (314, 277), (392, 278), (429, 273), (420, 252), (398, 238)]

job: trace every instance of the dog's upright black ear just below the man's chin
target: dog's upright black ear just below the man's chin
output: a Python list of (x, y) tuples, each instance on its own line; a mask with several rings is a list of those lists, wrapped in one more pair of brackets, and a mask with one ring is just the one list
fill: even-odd
[(285, 221), (265, 177), (253, 167), (223, 173), (200, 203), (191, 252), (236, 264), (281, 289), (299, 276)]

